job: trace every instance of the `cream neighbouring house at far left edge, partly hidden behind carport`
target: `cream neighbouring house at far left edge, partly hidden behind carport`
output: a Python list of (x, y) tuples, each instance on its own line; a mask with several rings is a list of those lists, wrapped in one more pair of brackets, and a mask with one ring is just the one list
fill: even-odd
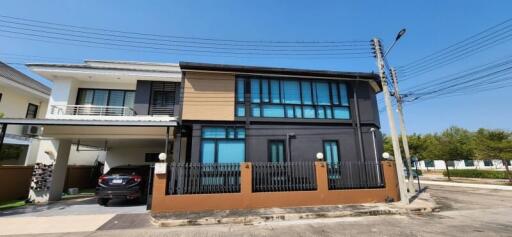
[[(0, 113), (3, 118), (41, 119), (46, 116), (51, 89), (0, 62)], [(9, 125), (0, 150), (0, 165), (33, 165), (41, 138), (40, 126)], [(70, 165), (93, 165), (104, 152), (79, 152), (73, 146)]]

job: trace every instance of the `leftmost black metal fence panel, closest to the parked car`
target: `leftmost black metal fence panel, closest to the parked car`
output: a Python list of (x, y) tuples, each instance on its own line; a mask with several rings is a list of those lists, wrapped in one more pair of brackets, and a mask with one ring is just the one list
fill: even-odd
[(171, 163), (169, 194), (240, 192), (240, 164)]

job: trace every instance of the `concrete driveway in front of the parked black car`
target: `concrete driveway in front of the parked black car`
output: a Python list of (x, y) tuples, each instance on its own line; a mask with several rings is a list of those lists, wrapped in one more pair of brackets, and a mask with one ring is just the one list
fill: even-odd
[(87, 232), (120, 226), (150, 227), (146, 205), (113, 201), (104, 207), (94, 198), (81, 198), (0, 212), (0, 235)]

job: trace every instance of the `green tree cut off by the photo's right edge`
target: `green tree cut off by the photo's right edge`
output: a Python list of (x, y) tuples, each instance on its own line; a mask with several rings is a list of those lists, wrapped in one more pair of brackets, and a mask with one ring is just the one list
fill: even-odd
[(512, 160), (512, 133), (504, 130), (478, 129), (474, 139), (477, 159), (499, 159), (505, 166), (508, 180), (512, 183), (512, 174), (508, 160)]

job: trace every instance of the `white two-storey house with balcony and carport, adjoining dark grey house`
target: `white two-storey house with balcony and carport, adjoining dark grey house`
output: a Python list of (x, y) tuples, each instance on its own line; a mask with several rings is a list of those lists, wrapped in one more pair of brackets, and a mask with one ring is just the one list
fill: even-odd
[(48, 109), (41, 118), (0, 123), (42, 126), (34, 157), (45, 165), (41, 169), (51, 170), (51, 178), (34, 176), (30, 200), (61, 198), (74, 151), (102, 152), (104, 172), (150, 165), (160, 153), (172, 155), (173, 135), (180, 131), (175, 131), (182, 78), (178, 64), (89, 60), (27, 66), (53, 82)]

